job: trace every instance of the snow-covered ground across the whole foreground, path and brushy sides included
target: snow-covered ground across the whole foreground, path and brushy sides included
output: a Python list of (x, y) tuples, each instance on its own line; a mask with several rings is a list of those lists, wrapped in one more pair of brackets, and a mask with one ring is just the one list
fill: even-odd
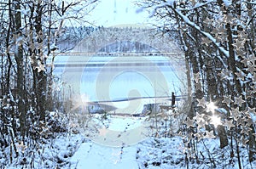
[[(126, 138), (119, 137), (125, 143), (124, 139), (128, 139), (129, 136), (132, 137), (130, 131), (140, 126), (141, 122), (141, 118), (111, 116), (111, 120), (108, 121), (108, 130), (125, 133)], [(99, 134), (100, 138), (108, 137), (107, 134), (105, 135), (108, 132), (102, 133)], [(113, 137), (108, 138), (108, 141), (110, 139)], [(188, 149), (184, 147), (181, 136), (173, 136), (172, 138), (148, 137), (137, 141), (137, 143), (118, 145), (99, 143), (97, 139), (85, 138), (83, 133), (62, 133), (55, 139), (45, 140), (44, 144), (39, 144), (38, 148), (34, 148), (32, 151), (34, 155), (15, 159), (9, 168), (204, 169), (214, 166), (219, 169), (239, 168), (236, 152), (234, 157), (230, 157), (230, 146), (219, 149), (218, 138), (201, 139), (201, 142), (196, 144), (195, 149), (197, 153), (189, 154)], [(193, 149), (190, 149), (190, 152), (192, 151)], [(242, 168), (255, 168), (256, 161), (252, 164), (247, 161), (246, 147), (241, 147), (240, 156)]]

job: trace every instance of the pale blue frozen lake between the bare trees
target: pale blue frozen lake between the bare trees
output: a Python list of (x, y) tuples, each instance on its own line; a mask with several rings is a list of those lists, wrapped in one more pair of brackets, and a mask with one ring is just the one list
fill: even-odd
[(143, 104), (167, 103), (172, 92), (181, 95), (183, 83), (166, 56), (61, 55), (55, 75), (61, 75), (75, 95), (141, 113)]

